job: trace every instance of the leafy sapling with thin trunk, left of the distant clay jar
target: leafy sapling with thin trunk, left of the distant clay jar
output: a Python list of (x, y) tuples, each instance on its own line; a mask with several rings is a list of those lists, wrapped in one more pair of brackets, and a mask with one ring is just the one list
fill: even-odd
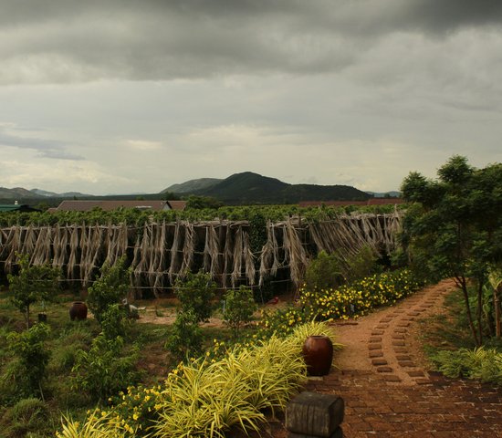
[(50, 300), (58, 290), (59, 269), (48, 265), (29, 265), (27, 255), (19, 257), (19, 274), (8, 274), (11, 302), (25, 314), (29, 328), (29, 308), (41, 300)]

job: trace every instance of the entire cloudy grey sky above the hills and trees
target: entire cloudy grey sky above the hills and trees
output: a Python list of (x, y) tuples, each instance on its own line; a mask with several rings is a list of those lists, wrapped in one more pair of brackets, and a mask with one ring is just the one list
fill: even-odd
[(502, 162), (500, 0), (0, 0), (0, 186), (257, 172), (397, 190)]

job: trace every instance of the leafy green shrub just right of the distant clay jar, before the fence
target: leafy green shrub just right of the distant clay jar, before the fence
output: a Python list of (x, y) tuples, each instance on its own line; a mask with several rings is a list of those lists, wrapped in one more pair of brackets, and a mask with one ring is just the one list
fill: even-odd
[(103, 265), (101, 276), (89, 287), (87, 305), (99, 324), (108, 308), (127, 296), (131, 272), (125, 267), (125, 263), (124, 256), (114, 266)]

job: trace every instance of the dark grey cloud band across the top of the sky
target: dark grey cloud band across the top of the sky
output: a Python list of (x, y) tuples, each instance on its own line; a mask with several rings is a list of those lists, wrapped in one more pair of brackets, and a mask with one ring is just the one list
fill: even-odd
[(392, 32), (499, 22), (497, 0), (0, 1), (0, 83), (337, 71)]

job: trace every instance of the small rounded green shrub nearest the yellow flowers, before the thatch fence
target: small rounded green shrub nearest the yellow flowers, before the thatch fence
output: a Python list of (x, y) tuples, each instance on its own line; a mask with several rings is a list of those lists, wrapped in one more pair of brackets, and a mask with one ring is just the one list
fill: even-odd
[(235, 338), (240, 328), (251, 321), (256, 308), (253, 291), (248, 287), (241, 286), (225, 294), (224, 322), (232, 329)]

